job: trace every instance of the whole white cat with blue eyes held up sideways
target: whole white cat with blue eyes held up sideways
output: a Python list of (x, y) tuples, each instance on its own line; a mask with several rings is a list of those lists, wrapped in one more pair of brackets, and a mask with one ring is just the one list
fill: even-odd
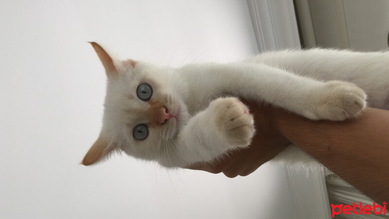
[(173, 69), (112, 59), (91, 44), (108, 83), (103, 127), (84, 165), (124, 151), (166, 167), (186, 167), (246, 147), (254, 135), (253, 118), (235, 97), (312, 120), (354, 117), (366, 105), (364, 91), (371, 107), (389, 109), (388, 52), (286, 50)]

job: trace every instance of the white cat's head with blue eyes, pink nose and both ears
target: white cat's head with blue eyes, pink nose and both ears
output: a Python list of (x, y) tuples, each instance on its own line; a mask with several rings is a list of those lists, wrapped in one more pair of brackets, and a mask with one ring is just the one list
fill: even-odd
[(117, 60), (90, 44), (106, 70), (107, 87), (103, 126), (82, 164), (95, 164), (115, 151), (160, 161), (166, 157), (162, 147), (189, 119), (182, 94), (186, 86), (179, 77), (174, 80), (177, 70)]

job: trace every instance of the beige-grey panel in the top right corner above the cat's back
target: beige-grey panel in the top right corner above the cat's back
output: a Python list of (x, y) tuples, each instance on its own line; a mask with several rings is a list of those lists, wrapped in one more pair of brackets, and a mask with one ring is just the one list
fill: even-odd
[(388, 0), (296, 0), (307, 48), (388, 49)]

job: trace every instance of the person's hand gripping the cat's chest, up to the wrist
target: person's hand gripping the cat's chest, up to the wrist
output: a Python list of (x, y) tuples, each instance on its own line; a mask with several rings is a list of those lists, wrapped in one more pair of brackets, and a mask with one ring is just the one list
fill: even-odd
[(248, 106), (250, 113), (254, 116), (256, 133), (250, 146), (231, 151), (229, 156), (221, 161), (214, 161), (212, 164), (197, 163), (189, 166), (189, 169), (204, 170), (210, 173), (223, 172), (230, 178), (247, 176), (290, 144), (290, 141), (273, 124), (274, 116), (282, 112), (282, 109), (248, 101), (242, 102)]

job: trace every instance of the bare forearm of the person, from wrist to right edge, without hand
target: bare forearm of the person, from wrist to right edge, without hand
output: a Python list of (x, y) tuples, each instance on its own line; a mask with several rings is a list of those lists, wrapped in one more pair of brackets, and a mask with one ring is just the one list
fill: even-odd
[(388, 110), (366, 108), (344, 122), (313, 122), (282, 110), (273, 118), (286, 138), (336, 175), (375, 201), (388, 200)]

